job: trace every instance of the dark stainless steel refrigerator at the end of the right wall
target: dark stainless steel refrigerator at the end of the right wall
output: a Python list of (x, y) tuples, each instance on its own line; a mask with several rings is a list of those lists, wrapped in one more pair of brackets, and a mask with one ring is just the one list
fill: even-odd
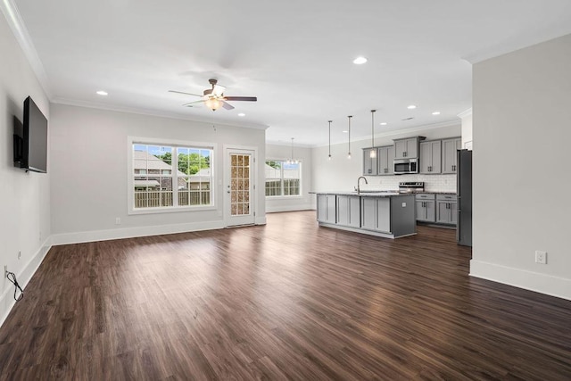
[(458, 244), (472, 246), (472, 151), (458, 150), (456, 193), (458, 195)]

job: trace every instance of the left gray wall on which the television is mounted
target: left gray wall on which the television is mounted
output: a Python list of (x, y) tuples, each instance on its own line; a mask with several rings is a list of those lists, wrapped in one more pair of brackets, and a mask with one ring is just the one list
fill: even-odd
[[(12, 117), (23, 119), (23, 102), (28, 95), (48, 120), (50, 110), (46, 94), (2, 14), (0, 57), (0, 271), (4, 275), (4, 266), (8, 266), (21, 285), (26, 285), (46, 254), (51, 234), (49, 180), (53, 166), (48, 152), (47, 174), (26, 173), (13, 167)], [(0, 323), (12, 308), (12, 295), (12, 283), (3, 277)]]

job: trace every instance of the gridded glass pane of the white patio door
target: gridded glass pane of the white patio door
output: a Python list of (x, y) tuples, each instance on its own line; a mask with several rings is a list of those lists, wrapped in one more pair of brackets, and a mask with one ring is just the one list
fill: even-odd
[(230, 214), (250, 214), (250, 155), (230, 154)]

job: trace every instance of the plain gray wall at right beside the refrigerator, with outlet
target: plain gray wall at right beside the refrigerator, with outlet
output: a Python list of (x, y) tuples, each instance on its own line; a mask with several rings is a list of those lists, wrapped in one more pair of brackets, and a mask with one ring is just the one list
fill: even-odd
[[(470, 273), (571, 299), (571, 35), (474, 66)], [(548, 252), (546, 265), (535, 250)]]

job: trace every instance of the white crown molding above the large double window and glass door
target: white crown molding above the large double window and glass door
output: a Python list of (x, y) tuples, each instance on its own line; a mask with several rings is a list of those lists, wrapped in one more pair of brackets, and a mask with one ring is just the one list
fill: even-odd
[[(112, 104), (99, 104), (95, 102), (86, 102), (86, 101), (78, 101), (74, 99), (67, 99), (62, 98), (61, 96), (56, 96), (52, 100), (52, 104), (62, 104), (66, 106), (74, 106), (74, 107), (85, 107), (88, 109), (95, 109), (95, 110), (102, 110), (102, 111), (109, 111), (109, 112), (124, 112), (130, 114), (137, 114), (137, 115), (147, 115), (153, 116), (158, 118), (169, 118), (174, 120), (189, 120), (189, 121), (196, 121), (201, 123), (209, 123), (212, 124), (212, 120), (210, 118), (196, 118), (195, 116), (186, 116), (180, 115), (172, 112), (161, 112), (158, 110), (147, 110), (147, 109), (140, 109), (136, 107), (125, 107), (125, 106), (118, 106)], [(269, 126), (264, 124), (256, 124), (256, 123), (241, 123), (241, 124), (231, 124), (228, 122), (219, 122), (216, 121), (215, 123), (217, 126), (226, 126), (226, 127), (242, 127), (242, 128), (256, 128), (256, 129), (268, 129)]]

